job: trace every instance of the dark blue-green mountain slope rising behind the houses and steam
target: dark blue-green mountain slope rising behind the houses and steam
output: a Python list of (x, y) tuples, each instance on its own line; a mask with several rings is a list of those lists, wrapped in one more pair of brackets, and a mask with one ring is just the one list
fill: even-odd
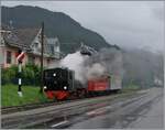
[(2, 23), (12, 21), (13, 28), (40, 28), (45, 23), (45, 33), (48, 37), (58, 36), (62, 51), (75, 52), (80, 42), (99, 50), (111, 47), (98, 33), (85, 29), (70, 17), (62, 12), (52, 12), (38, 7), (18, 6), (13, 8), (2, 7)]

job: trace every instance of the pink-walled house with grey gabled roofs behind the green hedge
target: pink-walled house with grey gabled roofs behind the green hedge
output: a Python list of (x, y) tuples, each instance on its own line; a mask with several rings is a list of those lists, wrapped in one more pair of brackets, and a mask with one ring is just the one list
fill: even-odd
[[(0, 36), (0, 59), (2, 67), (10, 67), (18, 64), (16, 53), (21, 48), (25, 51), (23, 65), (30, 63), (41, 64), (41, 29), (1, 29)], [(44, 58), (45, 67), (61, 58), (59, 41), (57, 37), (47, 39), (44, 35)]]

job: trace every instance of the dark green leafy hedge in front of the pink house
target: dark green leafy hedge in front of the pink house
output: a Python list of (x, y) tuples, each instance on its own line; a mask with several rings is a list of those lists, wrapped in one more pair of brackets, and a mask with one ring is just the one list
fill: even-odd
[[(18, 84), (18, 66), (2, 68), (2, 85)], [(41, 71), (36, 65), (26, 64), (22, 67), (22, 85), (40, 85)]]

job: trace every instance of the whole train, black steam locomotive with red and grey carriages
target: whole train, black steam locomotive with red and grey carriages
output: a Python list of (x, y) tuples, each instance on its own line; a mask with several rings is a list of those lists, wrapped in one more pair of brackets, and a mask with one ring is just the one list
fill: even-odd
[(120, 80), (112, 79), (112, 76), (108, 75), (89, 79), (86, 85), (82, 85), (75, 79), (75, 72), (68, 68), (57, 67), (44, 71), (44, 93), (50, 99), (81, 98), (120, 89)]

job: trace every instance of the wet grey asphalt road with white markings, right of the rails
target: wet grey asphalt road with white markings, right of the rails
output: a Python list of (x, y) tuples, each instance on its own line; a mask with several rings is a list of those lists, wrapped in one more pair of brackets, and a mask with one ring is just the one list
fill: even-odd
[(163, 129), (163, 88), (152, 88), (145, 93), (143, 96), (118, 101), (113, 105), (109, 102), (98, 104), (97, 109), (80, 115), (66, 116), (58, 122), (55, 120), (47, 122), (46, 128)]

